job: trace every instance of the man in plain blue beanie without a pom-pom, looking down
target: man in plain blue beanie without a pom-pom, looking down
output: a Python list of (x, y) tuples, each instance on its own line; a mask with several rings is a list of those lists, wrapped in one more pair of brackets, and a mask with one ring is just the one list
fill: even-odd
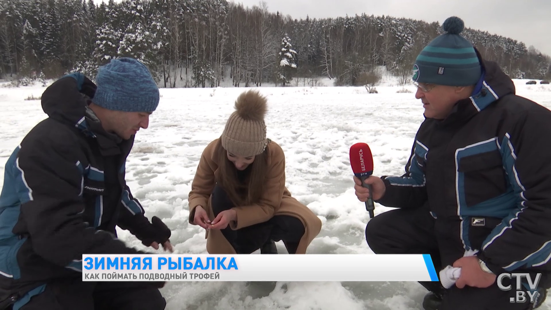
[(152, 221), (125, 181), (134, 135), (147, 129), (159, 89), (147, 67), (118, 58), (96, 84), (81, 73), (42, 94), (49, 116), (6, 163), (0, 195), (0, 309), (165, 308), (164, 282), (83, 282), (83, 254), (144, 253), (116, 226), (172, 251), (170, 229)]

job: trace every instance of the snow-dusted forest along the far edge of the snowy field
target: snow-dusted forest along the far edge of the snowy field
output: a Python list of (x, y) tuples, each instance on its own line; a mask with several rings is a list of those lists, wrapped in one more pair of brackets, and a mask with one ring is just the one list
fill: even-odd
[[(80, 71), (94, 78), (115, 57), (134, 57), (160, 87), (287, 85), (328, 77), (363, 84), (384, 66), (402, 84), (437, 22), (355, 15), (293, 19), (266, 3), (226, 0), (0, 0), (0, 78), (20, 83)], [(484, 58), (511, 78), (551, 77), (551, 57), (523, 42), (466, 28)], [(297, 83), (298, 84), (298, 83)]]

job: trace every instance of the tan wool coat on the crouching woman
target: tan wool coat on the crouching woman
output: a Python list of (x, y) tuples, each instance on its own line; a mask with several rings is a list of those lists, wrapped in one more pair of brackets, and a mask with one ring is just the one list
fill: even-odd
[[(218, 165), (220, 160), (215, 154), (218, 139), (209, 143), (204, 149), (195, 178), (191, 184), (191, 191), (188, 197), (190, 205), (190, 224), (194, 225), (193, 217), (195, 208), (202, 206), (210, 218), (214, 220), (214, 212), (210, 205), (211, 193), (215, 186), (215, 178), (220, 173)], [(230, 222), (231, 229), (240, 229), (268, 221), (275, 215), (289, 215), (298, 218), (305, 227), (305, 233), (300, 239), (296, 254), (305, 254), (306, 248), (321, 231), (320, 219), (304, 204), (301, 204), (294, 197), (291, 197), (289, 190), (285, 187), (285, 154), (283, 149), (276, 142), (269, 142), (267, 146), (268, 172), (266, 184), (260, 201), (249, 206), (237, 206), (237, 220)], [(235, 249), (224, 237), (219, 229), (209, 229), (206, 232), (207, 252), (209, 254), (236, 254)]]

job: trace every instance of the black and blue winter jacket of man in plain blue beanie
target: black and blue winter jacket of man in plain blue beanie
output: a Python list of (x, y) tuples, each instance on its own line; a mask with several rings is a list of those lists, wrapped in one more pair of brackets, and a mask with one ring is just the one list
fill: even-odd
[(125, 182), (133, 137), (105, 132), (88, 107), (96, 86), (71, 74), (42, 94), (49, 116), (6, 163), (0, 195), (0, 301), (40, 292), (57, 277), (82, 277), (82, 254), (135, 254), (116, 226), (159, 239)]

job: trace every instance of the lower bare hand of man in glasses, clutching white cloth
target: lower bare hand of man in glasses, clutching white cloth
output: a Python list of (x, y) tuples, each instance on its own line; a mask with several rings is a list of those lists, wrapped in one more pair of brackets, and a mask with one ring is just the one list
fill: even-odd
[(478, 264), (477, 256), (465, 256), (453, 263), (454, 267), (461, 267), (461, 276), (455, 282), (458, 288), (465, 286), (488, 287), (495, 282), (496, 275), (484, 272)]

